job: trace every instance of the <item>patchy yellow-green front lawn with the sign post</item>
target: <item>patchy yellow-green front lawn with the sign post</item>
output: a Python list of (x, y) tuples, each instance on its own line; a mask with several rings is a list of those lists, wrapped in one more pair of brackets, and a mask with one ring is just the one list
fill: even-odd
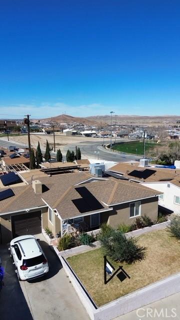
[(180, 242), (166, 229), (139, 236), (138, 244), (146, 247), (145, 259), (140, 262), (117, 263), (107, 257), (115, 269), (123, 265), (130, 276), (122, 282), (114, 276), (104, 284), (101, 248), (67, 258), (98, 306), (180, 271)]

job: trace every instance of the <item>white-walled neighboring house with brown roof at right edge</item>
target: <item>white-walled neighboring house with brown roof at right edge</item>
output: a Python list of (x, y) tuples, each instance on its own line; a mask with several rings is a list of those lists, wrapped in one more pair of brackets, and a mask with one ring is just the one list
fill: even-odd
[(109, 170), (161, 192), (159, 205), (175, 213), (180, 213), (179, 168), (140, 167), (137, 162), (124, 162), (112, 166)]

